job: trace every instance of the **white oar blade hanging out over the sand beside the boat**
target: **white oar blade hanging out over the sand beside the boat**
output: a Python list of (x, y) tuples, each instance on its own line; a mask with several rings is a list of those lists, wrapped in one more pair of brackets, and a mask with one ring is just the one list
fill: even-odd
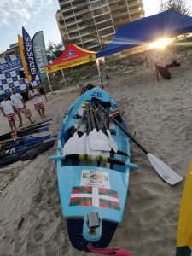
[(183, 180), (183, 177), (179, 176), (177, 172), (174, 172), (172, 168), (167, 166), (162, 160), (150, 153), (148, 153), (147, 156), (152, 166), (154, 166), (156, 172), (158, 172), (160, 177), (162, 177), (166, 183), (175, 185)]

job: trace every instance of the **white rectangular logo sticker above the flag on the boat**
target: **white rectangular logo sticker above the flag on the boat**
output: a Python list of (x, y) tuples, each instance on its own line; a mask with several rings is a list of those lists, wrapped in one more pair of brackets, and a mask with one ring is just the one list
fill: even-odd
[(80, 185), (110, 189), (108, 172), (82, 170)]

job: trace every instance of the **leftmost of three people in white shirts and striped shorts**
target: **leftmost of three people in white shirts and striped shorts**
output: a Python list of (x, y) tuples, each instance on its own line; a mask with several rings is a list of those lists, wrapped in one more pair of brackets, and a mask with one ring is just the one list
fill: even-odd
[[(16, 125), (15, 125), (15, 111), (16, 108), (14, 106), (14, 103), (8, 100), (8, 96), (6, 94), (3, 95), (3, 101), (1, 102), (1, 111), (3, 113), (3, 116), (6, 117), (9, 121), (9, 126), (11, 131), (16, 131)], [(15, 130), (14, 130), (15, 129)]]

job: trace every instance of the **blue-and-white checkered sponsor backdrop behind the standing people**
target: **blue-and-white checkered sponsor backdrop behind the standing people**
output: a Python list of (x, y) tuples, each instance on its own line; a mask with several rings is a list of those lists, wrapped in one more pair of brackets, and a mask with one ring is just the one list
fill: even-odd
[[(0, 100), (3, 99), (3, 94), (10, 96), (10, 90), (15, 87), (16, 91), (26, 90), (31, 84), (26, 78), (20, 78), (19, 72), (23, 70), (20, 54), (0, 57)], [(32, 85), (41, 84), (39, 78), (33, 81)]]

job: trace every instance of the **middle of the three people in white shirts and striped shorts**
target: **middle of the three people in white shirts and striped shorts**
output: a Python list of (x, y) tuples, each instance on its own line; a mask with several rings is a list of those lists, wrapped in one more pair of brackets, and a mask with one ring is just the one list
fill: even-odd
[[(16, 108), (15, 113), (19, 117), (19, 120), (20, 120), (19, 127), (21, 127), (21, 126), (23, 126), (23, 120), (22, 120), (22, 117), (21, 117), (21, 113), (24, 113), (24, 109), (26, 108), (26, 103), (25, 103), (23, 97), (20, 95), (20, 93), (16, 92), (15, 87), (13, 87), (11, 89), (11, 93), (12, 93), (12, 95), (10, 96), (10, 98), (11, 98), (11, 101), (14, 103), (14, 106)], [(27, 119), (30, 120), (31, 124), (34, 123), (34, 122), (32, 122), (31, 117), (29, 117)]]

